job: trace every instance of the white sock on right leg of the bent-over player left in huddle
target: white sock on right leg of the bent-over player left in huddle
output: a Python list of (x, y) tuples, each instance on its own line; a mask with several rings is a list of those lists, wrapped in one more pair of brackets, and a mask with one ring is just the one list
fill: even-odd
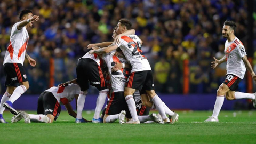
[(98, 98), (97, 98), (97, 101), (96, 101), (95, 113), (94, 113), (94, 116), (93, 116), (94, 119), (100, 118), (100, 111), (104, 106), (107, 95), (108, 95), (108, 89), (101, 90), (99, 92), (99, 95), (98, 95)]

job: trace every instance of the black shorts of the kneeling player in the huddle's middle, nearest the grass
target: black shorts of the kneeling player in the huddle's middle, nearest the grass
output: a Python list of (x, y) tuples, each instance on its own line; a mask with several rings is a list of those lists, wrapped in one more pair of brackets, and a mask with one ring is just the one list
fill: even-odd
[(108, 107), (105, 111), (106, 115), (116, 115), (121, 113), (122, 110), (126, 111), (126, 117), (131, 118), (130, 111), (128, 109), (128, 105), (124, 98), (124, 92), (114, 92), (111, 94), (111, 98), (108, 102)]

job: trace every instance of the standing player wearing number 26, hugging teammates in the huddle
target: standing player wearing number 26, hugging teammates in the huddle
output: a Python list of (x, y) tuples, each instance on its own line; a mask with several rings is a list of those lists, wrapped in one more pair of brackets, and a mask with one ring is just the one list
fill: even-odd
[[(125, 31), (131, 29), (131, 22), (126, 19), (119, 20), (117, 24), (117, 34), (122, 34)], [(170, 123), (169, 118), (165, 115), (164, 107), (162, 104), (162, 100), (158, 97), (158, 95), (154, 91), (154, 82), (153, 82), (153, 74), (151, 71), (151, 67), (147, 58), (141, 54), (141, 41), (137, 35), (128, 35), (122, 36), (119, 39), (120, 44), (111, 45), (98, 50), (91, 50), (90, 53), (109, 53), (117, 47), (120, 47), (123, 51), (126, 59), (131, 63), (132, 70), (129, 77), (129, 81), (126, 84), (124, 96), (129, 107), (130, 113), (132, 115), (131, 121), (127, 122), (129, 124), (139, 124), (140, 121), (138, 119), (136, 113), (135, 101), (133, 99), (132, 94), (135, 90), (146, 90), (148, 96), (155, 103), (160, 115), (162, 116), (165, 123)]]

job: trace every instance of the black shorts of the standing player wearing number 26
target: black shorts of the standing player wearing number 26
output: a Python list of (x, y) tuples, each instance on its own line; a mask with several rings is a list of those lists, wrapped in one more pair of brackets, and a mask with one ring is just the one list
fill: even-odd
[(137, 71), (130, 74), (126, 87), (136, 90), (154, 90), (154, 80), (151, 70)]

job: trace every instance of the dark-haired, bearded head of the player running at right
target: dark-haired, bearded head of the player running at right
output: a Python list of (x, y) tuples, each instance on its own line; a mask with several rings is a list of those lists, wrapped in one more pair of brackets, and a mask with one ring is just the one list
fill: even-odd
[(224, 38), (228, 38), (229, 36), (234, 35), (235, 31), (236, 31), (236, 23), (234, 21), (226, 20), (222, 28), (222, 36)]

